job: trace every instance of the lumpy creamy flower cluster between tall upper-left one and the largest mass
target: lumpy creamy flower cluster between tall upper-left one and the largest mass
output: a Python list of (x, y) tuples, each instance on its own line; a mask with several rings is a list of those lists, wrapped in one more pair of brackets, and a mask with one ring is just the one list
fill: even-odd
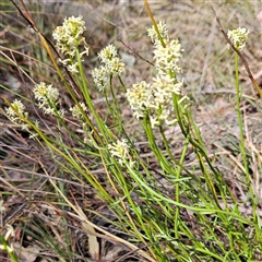
[(98, 53), (98, 58), (102, 64), (92, 70), (92, 76), (99, 91), (104, 91), (108, 86), (111, 76), (119, 76), (123, 72), (124, 63), (118, 57), (114, 45), (104, 48)]

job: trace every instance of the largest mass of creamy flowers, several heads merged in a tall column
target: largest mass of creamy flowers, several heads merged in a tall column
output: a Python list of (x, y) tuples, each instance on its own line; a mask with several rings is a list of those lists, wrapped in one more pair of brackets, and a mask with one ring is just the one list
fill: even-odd
[(181, 72), (181, 45), (177, 39), (169, 39), (164, 22), (159, 22), (157, 28), (163, 40), (158, 38), (154, 26), (147, 31), (154, 44), (156, 76), (152, 84), (142, 81), (127, 91), (134, 116), (141, 119), (147, 114), (152, 128), (162, 124), (163, 121), (167, 124), (176, 121), (172, 116), (172, 94), (180, 95), (182, 87), (182, 82), (177, 80), (177, 73)]

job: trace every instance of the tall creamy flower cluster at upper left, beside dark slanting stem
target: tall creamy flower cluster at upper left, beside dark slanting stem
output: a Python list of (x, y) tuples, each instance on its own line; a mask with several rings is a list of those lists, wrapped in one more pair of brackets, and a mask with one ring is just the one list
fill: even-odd
[(82, 36), (84, 31), (85, 22), (83, 16), (80, 15), (78, 17), (64, 19), (62, 26), (58, 26), (52, 33), (52, 37), (57, 41), (56, 47), (66, 56), (60, 61), (72, 73), (79, 73), (76, 51), (80, 49), (80, 46), (84, 47), (84, 50), (80, 52), (80, 58), (84, 55), (88, 56), (88, 47), (85, 38)]

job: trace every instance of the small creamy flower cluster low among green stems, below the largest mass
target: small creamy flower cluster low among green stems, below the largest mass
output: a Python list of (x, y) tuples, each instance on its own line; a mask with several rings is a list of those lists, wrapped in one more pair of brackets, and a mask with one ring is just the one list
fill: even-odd
[(132, 167), (134, 162), (130, 158), (128, 141), (126, 139), (118, 140), (116, 143), (108, 144), (108, 150), (112, 156), (117, 157), (120, 165), (124, 164), (124, 160), (129, 162), (129, 165)]

